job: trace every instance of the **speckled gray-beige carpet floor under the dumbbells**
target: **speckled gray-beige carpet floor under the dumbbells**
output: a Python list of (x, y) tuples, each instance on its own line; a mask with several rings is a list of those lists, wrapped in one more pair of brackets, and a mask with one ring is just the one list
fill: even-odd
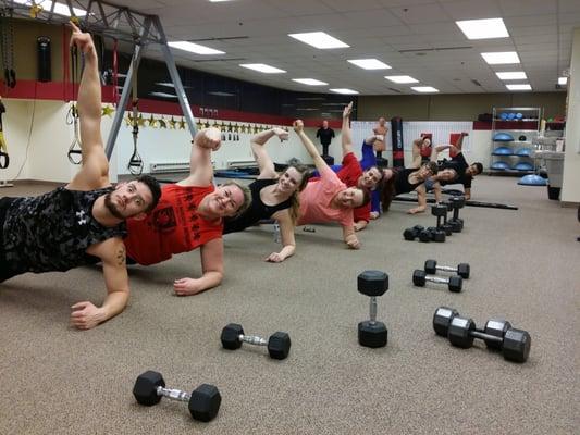
[[(0, 196), (46, 189), (23, 185)], [(102, 300), (98, 268), (0, 284), (0, 434), (579, 433), (577, 211), (516, 178), (480, 176), (474, 192), (519, 210), (465, 208), (461, 234), (420, 244), (405, 241), (403, 229), (434, 217), (407, 215), (410, 204), (397, 202), (360, 234), (360, 251), (345, 249), (338, 227), (297, 228), (297, 253), (281, 264), (262, 261), (276, 249), (270, 226), (229, 235), (219, 288), (173, 296), (174, 278), (199, 274), (198, 252), (132, 266), (129, 307), (88, 332), (71, 328), (69, 313), (76, 301)], [(412, 270), (428, 258), (469, 262), (464, 291), (414, 287)], [(356, 278), (367, 269), (391, 278), (379, 299), (378, 319), (388, 327), (382, 349), (357, 343), (369, 299)], [(432, 328), (439, 306), (480, 326), (505, 316), (527, 330), (528, 362), (505, 361), (481, 340), (452, 347)], [(288, 332), (289, 357), (271, 360), (248, 345), (222, 349), (230, 322), (264, 337)], [(166, 399), (137, 405), (133, 384), (149, 369), (174, 388), (217, 385), (217, 419), (193, 421), (185, 403)]]

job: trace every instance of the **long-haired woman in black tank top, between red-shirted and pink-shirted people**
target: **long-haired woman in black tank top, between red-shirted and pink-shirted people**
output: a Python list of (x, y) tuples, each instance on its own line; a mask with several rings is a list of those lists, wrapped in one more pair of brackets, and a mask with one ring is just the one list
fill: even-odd
[(298, 192), (306, 187), (310, 174), (308, 167), (301, 164), (291, 164), (280, 175), (275, 172), (274, 163), (264, 149), (266, 142), (274, 136), (284, 141), (288, 138), (288, 132), (272, 128), (251, 138), (251, 151), (260, 175), (248, 186), (251, 191), (250, 207), (240, 215), (225, 220), (223, 234), (244, 231), (264, 219), (276, 220), (282, 236), (282, 250), (272, 252), (266, 261), (279, 263), (294, 254), (296, 249), (294, 226), (298, 219)]

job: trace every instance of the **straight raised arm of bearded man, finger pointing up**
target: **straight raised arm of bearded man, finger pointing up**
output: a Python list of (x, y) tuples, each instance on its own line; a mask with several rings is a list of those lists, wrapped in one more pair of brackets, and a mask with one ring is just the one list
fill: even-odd
[(71, 47), (79, 50), (85, 67), (78, 87), (78, 120), (81, 123), (81, 149), (83, 166), (69, 184), (69, 188), (89, 190), (108, 186), (109, 161), (104, 154), (101, 136), (101, 83), (97, 50), (89, 34), (70, 23), (73, 33)]

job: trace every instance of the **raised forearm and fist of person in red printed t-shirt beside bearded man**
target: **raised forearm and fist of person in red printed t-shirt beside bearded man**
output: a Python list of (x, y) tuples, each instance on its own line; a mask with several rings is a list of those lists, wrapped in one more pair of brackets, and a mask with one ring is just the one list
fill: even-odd
[(222, 135), (215, 127), (197, 132), (193, 140), (189, 157), (189, 176), (180, 183), (181, 186), (208, 186), (213, 182), (211, 151), (217, 151), (222, 144)]

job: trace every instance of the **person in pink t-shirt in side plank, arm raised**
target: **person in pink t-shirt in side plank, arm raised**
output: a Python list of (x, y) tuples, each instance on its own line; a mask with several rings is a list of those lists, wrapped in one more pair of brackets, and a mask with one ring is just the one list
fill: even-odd
[(359, 249), (360, 243), (355, 235), (353, 209), (369, 202), (369, 192), (358, 187), (347, 187), (341, 182), (306, 136), (301, 120), (294, 122), (294, 130), (320, 173), (320, 179), (308, 183), (300, 192), (300, 213), (297, 225), (338, 222), (343, 226), (343, 239), (346, 245), (351, 249)]

